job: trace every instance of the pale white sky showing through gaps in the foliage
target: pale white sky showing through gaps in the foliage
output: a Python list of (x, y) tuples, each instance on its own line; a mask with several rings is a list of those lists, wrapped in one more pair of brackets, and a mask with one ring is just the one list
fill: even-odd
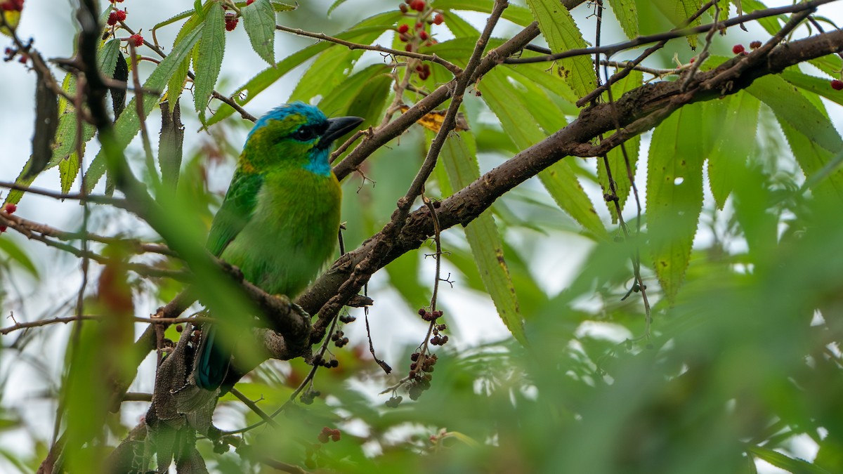
[[(347, 0), (340, 8), (337, 8), (333, 13), (333, 17), (340, 18), (347, 24), (356, 23), (368, 14), (373, 12), (372, 5), (386, 5), (391, 7), (393, 3), (398, 3), (400, 0), (383, 0), (380, 2), (373, 2), (372, 0)], [(319, 14), (324, 15), (330, 3), (333, 0), (320, 0), (309, 2), (303, 0), (301, 2), (303, 8), (297, 12), (282, 13), (278, 16), (278, 23), (293, 27), (301, 27), (309, 30), (320, 31), (318, 22), (314, 18), (321, 18)], [(769, 6), (783, 6), (791, 4), (789, 0), (769, 0), (766, 2)], [(102, 3), (105, 5), (105, 3)], [(121, 8), (126, 8), (129, 12), (126, 20), (133, 28), (139, 25), (152, 25), (169, 18), (175, 13), (191, 8), (192, 2), (172, 2), (166, 0), (126, 0), (121, 3)], [(71, 37), (73, 30), (72, 23), (72, 8), (73, 3), (67, 0), (27, 0), (24, 7), (24, 14), (19, 25), (19, 34), (24, 38), (30, 36), (35, 37), (35, 47), (45, 57), (70, 57), (72, 56), (72, 44), (67, 41)], [(577, 23), (584, 30), (591, 30), (590, 24), (593, 24), (593, 19), (588, 19), (590, 10), (585, 6), (574, 10)], [(820, 8), (819, 14), (834, 19), (838, 23), (843, 23), (843, 3), (832, 3)], [(482, 24), (485, 22), (485, 16), (480, 14), (468, 14), (466, 18), (471, 19), (475, 24)], [(615, 20), (610, 17), (607, 18), (609, 24), (604, 25), (604, 44), (623, 40), (618, 36), (619, 29), (616, 27)], [(169, 46), (172, 44), (173, 37), (177, 32), (178, 26), (170, 26), (164, 28), (158, 33), (158, 40), (162, 45)], [(334, 27), (336, 28), (336, 26)], [(444, 31), (441, 29), (439, 31)], [(748, 46), (751, 40), (764, 40), (768, 37), (759, 27), (749, 24), (749, 33), (745, 33), (738, 29), (729, 30), (728, 43), (743, 43)], [(496, 30), (496, 36), (507, 36), (517, 31), (511, 24), (502, 24)], [(336, 30), (325, 30), (325, 33), (336, 33)], [(613, 37), (613, 33), (615, 37)], [(804, 29), (800, 30), (800, 35), (804, 35)], [(447, 35), (442, 35), (440, 39), (447, 39)], [(280, 59), (287, 53), (298, 51), (303, 46), (312, 44), (313, 41), (277, 33), (276, 57)], [(381, 38), (380, 44), (388, 44), (388, 39)], [(0, 38), (0, 46), (8, 46), (10, 42), (5, 37)], [(234, 30), (234, 32), (227, 35), (227, 50), (223, 60), (223, 75), (221, 77), (222, 83), (217, 87), (223, 94), (228, 94), (234, 91), (240, 84), (244, 83), (250, 78), (251, 74), (262, 70), (266, 67), (266, 62), (263, 62), (254, 51), (251, 51), (248, 39), (242, 24)], [(369, 54), (369, 53), (367, 53)], [(373, 60), (379, 60), (374, 53), (371, 53)], [(686, 59), (686, 58), (685, 58)], [(255, 116), (259, 116), (266, 110), (281, 104), (287, 100), (288, 95), (293, 90), (298, 77), (305, 70), (304, 67), (299, 67), (296, 71), (267, 89), (260, 94), (257, 100), (253, 100), (246, 109)], [(56, 73), (57, 77), (61, 78), (61, 73)], [(35, 94), (35, 74), (30, 72), (26, 67), (19, 64), (19, 62), (0, 63), (0, 86), (3, 90), (3, 101), (0, 105), (0, 143), (3, 143), (3, 151), (0, 152), (0, 180), (12, 181), (18, 175), (19, 171), (24, 166), (25, 161), (30, 154), (30, 137), (32, 135), (34, 110), (33, 97)], [(843, 94), (843, 92), (841, 92)], [(183, 102), (185, 107), (183, 110), (188, 110), (190, 102)], [(843, 126), (843, 112), (840, 107), (830, 107), (832, 120), (838, 130)], [(187, 115), (187, 114), (185, 114)], [(192, 116), (190, 117), (192, 119)], [(189, 121), (189, 117), (183, 119), (186, 124), (185, 130), (185, 150), (190, 150), (196, 143), (199, 142), (200, 135), (196, 132), (196, 121)], [(154, 128), (154, 127), (153, 127)], [(242, 143), (245, 137), (246, 129), (239, 131), (242, 137), (234, 139), (234, 143)], [(153, 145), (157, 144), (157, 131), (153, 133)], [(645, 147), (642, 152), (646, 153)], [(94, 149), (95, 140), (89, 143)], [(140, 149), (139, 141), (136, 139), (132, 144), (134, 149)], [(88, 154), (86, 159), (90, 159), (94, 154)], [(231, 175), (233, 160), (223, 167), (220, 167), (214, 175), (212, 175), (212, 183), (220, 191), (223, 191), (228, 186), (228, 179)], [(481, 161), (481, 166), (484, 163)], [(484, 169), (488, 166), (484, 167)], [(639, 173), (636, 176), (636, 182), (640, 189), (644, 189), (645, 176)], [(34, 186), (43, 187), (47, 189), (58, 189), (59, 177), (56, 169), (49, 170), (35, 180)], [(78, 186), (75, 183), (74, 191)], [(528, 185), (529, 186), (529, 185)], [(101, 191), (101, 185), (99, 190)], [(3, 192), (4, 190), (0, 190)], [(595, 204), (599, 204), (599, 190), (588, 189), (594, 197)], [(3, 194), (5, 196), (5, 194)], [(599, 212), (605, 213), (604, 206), (597, 206)], [(53, 199), (46, 197), (38, 197), (35, 195), (27, 195), (19, 205), (19, 215), (24, 218), (30, 218), (36, 222), (50, 224), (59, 229), (75, 229), (78, 225), (81, 216), (81, 210), (77, 202), (56, 202)], [(39, 287), (38, 293), (31, 293), (27, 288), (32, 287), (32, 282), (25, 278), (19, 281), (3, 282), (5, 288), (8, 285), (15, 285), (24, 295), (29, 295), (29, 298), (24, 298), (19, 306), (14, 308), (0, 309), (6, 311), (3, 317), (8, 314), (8, 310), (15, 311), (16, 317), (19, 320), (35, 320), (44, 317), (47, 310), (56, 310), (59, 305), (68, 298), (74, 297), (75, 288), (78, 288), (79, 272), (78, 262), (70, 257), (53, 251), (45, 250), (43, 245), (35, 242), (27, 242), (20, 235), (10, 232), (3, 234), (3, 239), (13, 239), (20, 242), (24, 247), (35, 256), (36, 263), (40, 267), (40, 273), (43, 278), (43, 283)], [(706, 239), (706, 235), (701, 235), (700, 239)], [(565, 288), (566, 284), (570, 282), (572, 275), (577, 270), (578, 262), (583, 261), (585, 252), (588, 250), (588, 241), (575, 234), (553, 234), (550, 239), (525, 241), (525, 246), (534, 247), (533, 255), (542, 256), (541, 259), (534, 261), (534, 275), (539, 275), (538, 280), (545, 286), (545, 290), (550, 294), (556, 294), (561, 288)], [(45, 253), (46, 252), (46, 253)], [(39, 257), (39, 256), (47, 257)], [(51, 267), (46, 267), (50, 265)], [(423, 267), (425, 272), (428, 272), (432, 280), (432, 261), (426, 263)], [(567, 271), (560, 271), (566, 269)], [(445, 269), (448, 272), (448, 268)], [(427, 276), (426, 276), (427, 277)], [(400, 361), (395, 361), (397, 351), (400, 350), (405, 342), (415, 341), (419, 334), (423, 331), (425, 325), (417, 317), (407, 315), (405, 304), (400, 301), (400, 298), (395, 294), (390, 294), (391, 290), (385, 291), (383, 285), (383, 277), (376, 275), (373, 278), (372, 288), (373, 292), (379, 292), (377, 304), (370, 312), (370, 319), (373, 323), (373, 339), (379, 342), (382, 347), (382, 357), (387, 358), (390, 364)], [(379, 289), (380, 288), (380, 289)], [(475, 345), (478, 342), (496, 341), (507, 336), (507, 330), (497, 318), (494, 307), (491, 301), (482, 294), (477, 294), (471, 290), (461, 288), (458, 285), (454, 289), (443, 286), (442, 294), (443, 304), (448, 308), (449, 313), (454, 315), (452, 320), (449, 320), (449, 326), (454, 329), (454, 334), (459, 337), (451, 337), (454, 347), (467, 347)], [(148, 307), (143, 307), (142, 302), (136, 302), (138, 306), (138, 315), (148, 315), (155, 309), (157, 304), (148, 302)], [(68, 314), (69, 312), (65, 312)], [(52, 315), (51, 313), (49, 315)], [(384, 324), (384, 321), (389, 321), (389, 324)], [(482, 321), (482, 324), (478, 324)], [(0, 326), (8, 326), (11, 321), (3, 319), (0, 321)], [(348, 325), (344, 328), (346, 335), (352, 338), (352, 342), (362, 341), (365, 337), (364, 326), (362, 324)], [(31, 366), (27, 364), (20, 364), (20, 361), (12, 361), (9, 356), (11, 352), (3, 353), (3, 358), (0, 359), (0, 376), (10, 377), (7, 386), (16, 387), (14, 392), (6, 392), (3, 394), (2, 404), (6, 407), (20, 407), (22, 414), (35, 427), (38, 433), (44, 434), (45, 438), (49, 438), (52, 430), (51, 417), (55, 412), (55, 407), (52, 401), (47, 401), (40, 396), (40, 393), (49, 387), (53, 380), (58, 380), (58, 374), (62, 367), (63, 348), (55, 347), (55, 344), (49, 342), (61, 342), (66, 339), (64, 331), (50, 331), (50, 337), (43, 341), (41, 347), (45, 347), (44, 353), (34, 354), (36, 358), (40, 358), (40, 363), (44, 364), (48, 374), (44, 374), (43, 380), (31, 380), (24, 377), (24, 373), (31, 371)], [(13, 339), (9, 338), (8, 341)], [(9, 342), (4, 340), (4, 344)], [(33, 346), (35, 347), (35, 346)], [(31, 353), (30, 347), (30, 353)], [(392, 359), (390, 359), (392, 358)], [(133, 391), (151, 391), (153, 383), (153, 366), (151, 359), (148, 358), (145, 372), (142, 372), (135, 385), (132, 386)], [(14, 365), (13, 365), (14, 364)], [(393, 364), (394, 366), (396, 364)], [(31, 376), (31, 375), (30, 375)], [(25, 405), (24, 405), (25, 401)], [(146, 411), (146, 404), (134, 404), (133, 407), (124, 410), (123, 416), (127, 423), (132, 423), (143, 412)], [(126, 406), (124, 406), (126, 408)], [(46, 414), (46, 416), (45, 416)], [(236, 423), (237, 420), (234, 420)], [(22, 436), (23, 434), (23, 436)], [(807, 438), (807, 437), (806, 437)], [(0, 445), (8, 449), (20, 449), (30, 451), (32, 450), (31, 442), (28, 435), (23, 430), (8, 431), (0, 434)], [(805, 459), (813, 459), (815, 453), (815, 446), (810, 439), (797, 439), (794, 443), (793, 451), (800, 457)], [(0, 471), (6, 472), (8, 466), (4, 466), (0, 461)], [(782, 472), (776, 468), (760, 464), (759, 471), (762, 474), (772, 474)]]

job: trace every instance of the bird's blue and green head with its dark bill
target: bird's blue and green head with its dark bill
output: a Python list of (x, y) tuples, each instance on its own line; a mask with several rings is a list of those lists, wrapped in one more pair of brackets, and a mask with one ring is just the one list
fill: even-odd
[(327, 176), (331, 143), (361, 121), (359, 117), (329, 119), (322, 110), (302, 102), (281, 105), (255, 122), (244, 156), (258, 170), (298, 165)]

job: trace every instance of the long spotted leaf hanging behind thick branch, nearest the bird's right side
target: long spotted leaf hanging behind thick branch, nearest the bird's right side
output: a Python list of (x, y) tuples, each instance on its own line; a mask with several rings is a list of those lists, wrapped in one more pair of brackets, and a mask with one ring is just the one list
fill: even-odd
[[(440, 159), (453, 189), (462, 189), (480, 178), (475, 149), (474, 137), (470, 133), (454, 134), (445, 141)], [(513, 337), (526, 344), (524, 320), (518, 309), (518, 297), (507, 262), (503, 258), (501, 235), (488, 209), (465, 226), (465, 237), (497, 314)]]

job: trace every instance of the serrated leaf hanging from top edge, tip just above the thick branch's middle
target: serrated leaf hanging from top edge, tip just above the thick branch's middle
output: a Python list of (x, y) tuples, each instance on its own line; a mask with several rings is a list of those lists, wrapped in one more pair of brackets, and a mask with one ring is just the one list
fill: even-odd
[[(558, 0), (527, 0), (527, 4), (539, 21), (539, 29), (550, 51), (561, 52), (587, 46), (571, 13)], [(577, 96), (583, 97), (597, 87), (593, 62), (588, 56), (568, 57), (560, 60), (559, 64), (559, 74)]]

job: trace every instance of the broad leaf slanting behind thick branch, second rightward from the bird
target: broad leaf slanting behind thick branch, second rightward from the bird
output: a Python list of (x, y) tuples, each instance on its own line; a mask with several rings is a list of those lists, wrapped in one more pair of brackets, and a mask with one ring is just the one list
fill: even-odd
[[(547, 109), (549, 105), (552, 105), (552, 101), (547, 100), (546, 95), (544, 99), (529, 97), (529, 94), (535, 94), (535, 92), (524, 94), (523, 91), (513, 88), (503, 70), (498, 69), (493, 69), (486, 74), (483, 78), (482, 90), (483, 100), (497, 115), (504, 132), (512, 138), (519, 149), (528, 148), (547, 137), (534, 118), (546, 113), (546, 110), (539, 113), (539, 109)], [(556, 116), (562, 119), (561, 111), (557, 110)], [(594, 211), (591, 200), (580, 186), (571, 164), (568, 164), (566, 160), (558, 161), (547, 170), (540, 172), (539, 178), (562, 210), (591, 234), (599, 238), (606, 237), (606, 229), (597, 212)]]

